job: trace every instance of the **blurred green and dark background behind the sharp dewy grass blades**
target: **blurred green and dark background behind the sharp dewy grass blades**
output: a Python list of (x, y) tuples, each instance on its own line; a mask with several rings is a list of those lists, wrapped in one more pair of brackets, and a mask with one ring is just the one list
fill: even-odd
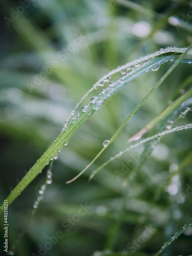
[[(191, 43), (192, 2), (1, 0), (0, 6), (3, 202), (100, 77), (160, 48)], [(144, 164), (140, 164), (145, 152), (141, 146), (88, 182), (96, 167), (125, 150), (127, 139), (190, 88), (188, 83), (182, 89), (182, 83), (191, 80), (189, 64), (180, 64), (90, 169), (66, 184), (98, 154), (102, 142), (112, 137), (169, 67), (166, 63), (157, 72), (138, 77), (112, 96), (62, 148), (53, 163), (53, 181), (17, 244), (49, 166), (10, 205), (10, 255), (153, 255), (191, 219), (190, 130), (162, 138), (152, 154), (146, 152)], [(101, 89), (94, 90), (80, 109)], [(190, 105), (188, 100), (174, 115)], [(177, 125), (191, 122), (190, 111), (183, 117)], [(163, 125), (148, 135), (161, 131)], [(138, 173), (133, 183), (122, 186), (135, 168)], [(3, 236), (1, 229), (2, 255)], [(190, 227), (162, 255), (191, 254), (191, 236)]]

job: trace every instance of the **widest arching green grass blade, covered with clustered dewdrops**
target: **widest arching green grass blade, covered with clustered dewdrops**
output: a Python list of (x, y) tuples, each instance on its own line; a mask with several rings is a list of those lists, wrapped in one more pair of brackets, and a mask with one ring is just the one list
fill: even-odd
[[(166, 76), (167, 76), (178, 65), (178, 63), (184, 58), (184, 56), (186, 54), (192, 53), (191, 48), (192, 48), (192, 45), (188, 49), (187, 48), (174, 48), (174, 47), (168, 47), (166, 49), (161, 49), (160, 51), (157, 51), (156, 53), (147, 55), (145, 57), (142, 57), (135, 61), (127, 63), (124, 66), (118, 67), (116, 70), (113, 70), (109, 74), (103, 76), (100, 80), (104, 80), (104, 79), (108, 78), (110, 75), (115, 74), (124, 69), (128, 70), (131, 67), (134, 68), (134, 70), (131, 73), (124, 75), (123, 78), (118, 79), (116, 82), (111, 84), (111, 86), (109, 86), (106, 90), (104, 90), (104, 92), (101, 92), (97, 97), (95, 97), (90, 102), (90, 104), (88, 106), (86, 106), (86, 108), (85, 107), (83, 108), (83, 110), (76, 116), (76, 118), (72, 119), (71, 123), (65, 128), (64, 131), (62, 131), (62, 133), (58, 136), (58, 138), (55, 139), (55, 141), (48, 148), (48, 150), (36, 161), (36, 163), (32, 166), (32, 168), (25, 175), (25, 177), (18, 183), (18, 185), (9, 194), (9, 196), (7, 197), (8, 205), (10, 205), (15, 200), (15, 198), (18, 197), (18, 195), (31, 183), (31, 181), (39, 173), (41, 173), (42, 169), (44, 169), (44, 167), (47, 164), (49, 164), (49, 162), (57, 154), (57, 152), (60, 151), (64, 145), (66, 145), (66, 143), (69, 141), (69, 139), (71, 139), (71, 137), (90, 118), (90, 116), (96, 110), (98, 110), (100, 108), (101, 104), (106, 99), (111, 97), (114, 93), (118, 92), (120, 89), (122, 89), (124, 86), (126, 86), (127, 83), (129, 83), (136, 77), (144, 74), (145, 72), (148, 72), (149, 70), (157, 68), (162, 63), (165, 63), (169, 60), (173, 60), (173, 58), (175, 58), (178, 55), (183, 53), (178, 58), (177, 62), (174, 63), (172, 68), (169, 69), (168, 73), (166, 73)], [(162, 83), (163, 79), (165, 79), (165, 76), (163, 76), (162, 79), (160, 79), (159, 84), (157, 84), (156, 87), (158, 87)], [(100, 82), (100, 80), (98, 82)], [(155, 89), (156, 88), (154, 88), (151, 91), (151, 93), (153, 93), (153, 91), (155, 91)], [(150, 95), (151, 94), (148, 94), (147, 97), (149, 97)], [(144, 98), (143, 100), (145, 101), (147, 99), (147, 97)], [(140, 105), (138, 105), (138, 109), (139, 108), (140, 108)], [(135, 110), (135, 112), (132, 112), (132, 116), (135, 113), (136, 113), (136, 110)], [(129, 120), (130, 118), (131, 118), (131, 116), (127, 120)], [(127, 120), (126, 120), (126, 122), (127, 122)], [(123, 122), (122, 127), (125, 125), (125, 123)], [(118, 132), (120, 132), (122, 127), (120, 127)], [(113, 136), (114, 139), (117, 136), (117, 134), (115, 134)], [(0, 206), (0, 214), (3, 212), (3, 209), (4, 209), (4, 206), (3, 205)]]

